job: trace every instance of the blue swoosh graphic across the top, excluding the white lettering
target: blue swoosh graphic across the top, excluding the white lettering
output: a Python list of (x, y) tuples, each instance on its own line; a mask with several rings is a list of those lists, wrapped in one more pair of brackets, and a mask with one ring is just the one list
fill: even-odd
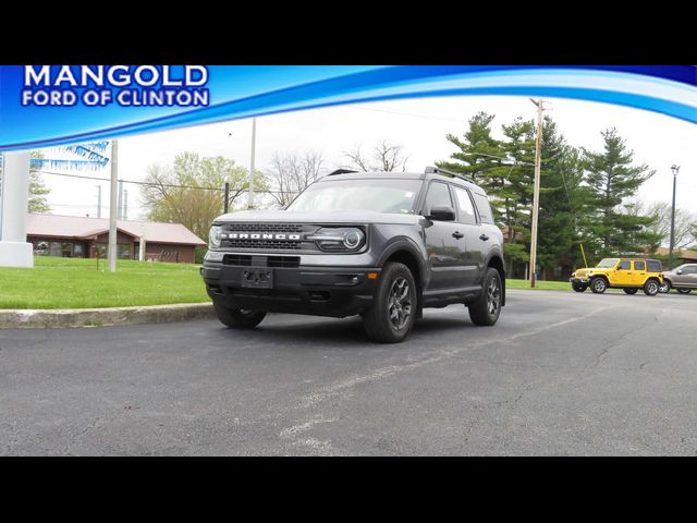
[(23, 107), (24, 68), (0, 66), (0, 150), (377, 100), (547, 96), (601, 101), (697, 123), (694, 65), (213, 65), (208, 107)]

